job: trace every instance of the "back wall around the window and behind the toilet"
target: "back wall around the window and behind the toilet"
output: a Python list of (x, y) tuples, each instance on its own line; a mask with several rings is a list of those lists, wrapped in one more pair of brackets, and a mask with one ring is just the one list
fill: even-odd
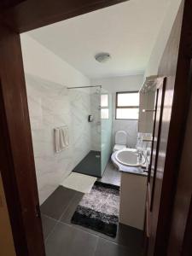
[(112, 94), (113, 101), (113, 144), (114, 135), (118, 130), (125, 130), (128, 133), (128, 146), (135, 148), (137, 143), (137, 120), (116, 120), (115, 119), (115, 93), (116, 91), (139, 90), (143, 84), (143, 74), (113, 77), (109, 79), (93, 79), (91, 84), (100, 84), (102, 88)]

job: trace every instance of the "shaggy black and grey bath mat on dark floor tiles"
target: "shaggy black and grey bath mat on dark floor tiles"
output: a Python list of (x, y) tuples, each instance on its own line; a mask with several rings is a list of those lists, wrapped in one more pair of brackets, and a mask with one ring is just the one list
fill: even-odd
[(115, 237), (119, 222), (119, 186), (94, 183), (73, 214), (72, 223)]

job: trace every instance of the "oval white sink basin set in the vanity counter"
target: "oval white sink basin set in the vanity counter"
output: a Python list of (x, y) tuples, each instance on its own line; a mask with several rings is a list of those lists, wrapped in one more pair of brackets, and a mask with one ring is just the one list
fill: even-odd
[(143, 166), (145, 164), (145, 157), (140, 158), (136, 151), (130, 149), (122, 149), (117, 151), (115, 159), (124, 166)]

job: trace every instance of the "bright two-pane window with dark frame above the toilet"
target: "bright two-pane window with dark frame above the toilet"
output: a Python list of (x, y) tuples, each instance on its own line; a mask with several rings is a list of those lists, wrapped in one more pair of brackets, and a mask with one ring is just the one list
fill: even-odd
[(116, 93), (116, 119), (138, 119), (138, 113), (138, 91), (123, 91)]

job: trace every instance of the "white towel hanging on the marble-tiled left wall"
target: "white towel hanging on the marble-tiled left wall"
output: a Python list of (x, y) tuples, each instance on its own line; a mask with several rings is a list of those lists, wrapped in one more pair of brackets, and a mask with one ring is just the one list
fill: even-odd
[(56, 153), (61, 152), (68, 147), (68, 128), (67, 126), (61, 126), (55, 128), (55, 151)]

